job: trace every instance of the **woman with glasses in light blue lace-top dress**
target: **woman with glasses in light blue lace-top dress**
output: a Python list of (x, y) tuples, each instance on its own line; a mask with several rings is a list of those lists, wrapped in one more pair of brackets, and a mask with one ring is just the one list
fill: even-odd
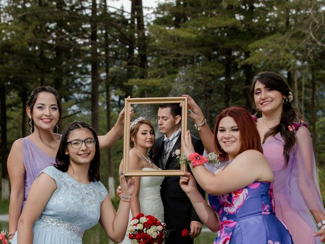
[(110, 239), (122, 241), (127, 228), (134, 180), (121, 176), (116, 214), (100, 180), (100, 148), (94, 130), (83, 122), (63, 132), (57, 164), (32, 184), (13, 243), (81, 244), (86, 229), (100, 221)]

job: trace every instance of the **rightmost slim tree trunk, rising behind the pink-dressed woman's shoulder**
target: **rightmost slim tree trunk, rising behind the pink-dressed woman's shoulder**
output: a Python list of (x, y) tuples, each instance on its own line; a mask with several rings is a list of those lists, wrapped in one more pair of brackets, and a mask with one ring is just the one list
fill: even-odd
[(310, 104), (310, 124), (312, 127), (312, 142), (315, 153), (316, 163), (318, 162), (318, 154), (317, 154), (317, 132), (316, 132), (316, 105), (315, 105), (315, 93), (316, 93), (316, 80), (315, 80), (315, 67), (314, 64), (311, 64), (311, 104)]

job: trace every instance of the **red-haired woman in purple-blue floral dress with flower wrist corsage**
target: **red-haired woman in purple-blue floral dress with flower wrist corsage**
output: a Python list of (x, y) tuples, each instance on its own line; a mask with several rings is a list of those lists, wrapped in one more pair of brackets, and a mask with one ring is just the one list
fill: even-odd
[(263, 156), (254, 120), (243, 108), (224, 109), (215, 123), (214, 147), (221, 161), (214, 174), (202, 156), (193, 157), (189, 131), (182, 138), (184, 154), (200, 186), (209, 194), (210, 206), (199, 194), (193, 176), (181, 176), (180, 185), (200, 219), (219, 231), (215, 244), (292, 244), (285, 225), (275, 216), (273, 172)]

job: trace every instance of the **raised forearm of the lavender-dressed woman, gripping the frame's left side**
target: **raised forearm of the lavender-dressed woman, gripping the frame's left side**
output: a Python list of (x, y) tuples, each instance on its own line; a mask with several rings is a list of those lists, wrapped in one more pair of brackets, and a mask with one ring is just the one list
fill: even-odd
[[(98, 140), (100, 142), (101, 150), (109, 148), (115, 144), (115, 142), (123, 135), (124, 131), (124, 108), (119, 113), (116, 123), (114, 124), (113, 128), (107, 132), (104, 136), (99, 136)], [(129, 110), (130, 117), (134, 116), (133, 108), (131, 107)]]

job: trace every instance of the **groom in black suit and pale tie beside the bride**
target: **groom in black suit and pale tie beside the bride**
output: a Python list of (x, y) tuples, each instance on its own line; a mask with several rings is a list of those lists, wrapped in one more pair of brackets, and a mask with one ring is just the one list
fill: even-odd
[[(177, 103), (159, 104), (158, 127), (161, 136), (155, 140), (153, 162), (161, 169), (179, 169), (175, 150), (181, 146), (181, 121), (182, 108)], [(194, 149), (200, 155), (203, 154), (202, 141), (191, 136)], [(189, 170), (189, 167), (188, 167)], [(197, 184), (203, 197), (204, 190)], [(179, 185), (179, 176), (166, 176), (160, 190), (161, 199), (165, 209), (165, 223), (169, 236), (166, 244), (191, 244), (202, 230), (202, 223), (194, 211), (192, 204)], [(182, 236), (182, 230), (187, 229), (190, 235)]]

